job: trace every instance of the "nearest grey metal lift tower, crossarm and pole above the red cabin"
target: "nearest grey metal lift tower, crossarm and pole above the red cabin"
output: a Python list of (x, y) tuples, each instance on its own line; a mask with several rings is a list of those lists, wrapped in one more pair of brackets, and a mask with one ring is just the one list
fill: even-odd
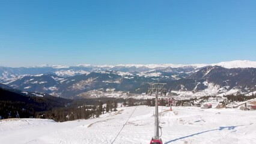
[(163, 88), (166, 83), (149, 83), (150, 85), (150, 94), (156, 94), (156, 106), (155, 106), (155, 114), (154, 114), (154, 139), (159, 140), (159, 119), (158, 119), (158, 94), (162, 95), (165, 89)]

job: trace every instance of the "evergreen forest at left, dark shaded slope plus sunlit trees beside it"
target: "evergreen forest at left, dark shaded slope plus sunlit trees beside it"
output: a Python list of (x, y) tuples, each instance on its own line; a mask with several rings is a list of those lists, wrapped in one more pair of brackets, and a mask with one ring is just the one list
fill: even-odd
[(47, 118), (61, 122), (88, 119), (116, 110), (117, 103), (123, 101), (123, 98), (67, 100), (52, 96), (34, 97), (0, 88), (0, 119)]

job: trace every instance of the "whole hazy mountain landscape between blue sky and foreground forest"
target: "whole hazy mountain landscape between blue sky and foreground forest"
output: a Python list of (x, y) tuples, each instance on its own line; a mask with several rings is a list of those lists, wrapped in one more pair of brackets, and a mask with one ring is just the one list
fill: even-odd
[[(171, 95), (203, 96), (256, 92), (256, 62), (218, 64), (77, 65), (0, 67), (0, 83), (58, 97), (129, 97), (147, 92), (148, 82), (167, 83)], [(129, 94), (130, 93), (130, 94)]]

